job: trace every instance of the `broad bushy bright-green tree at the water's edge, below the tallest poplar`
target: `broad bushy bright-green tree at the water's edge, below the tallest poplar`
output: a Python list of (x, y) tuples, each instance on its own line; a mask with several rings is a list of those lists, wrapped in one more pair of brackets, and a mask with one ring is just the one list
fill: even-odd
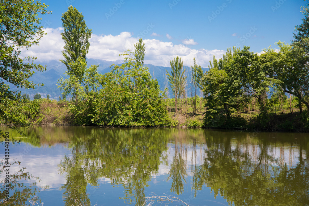
[[(124, 64), (114, 66), (100, 81), (92, 122), (112, 126), (163, 126), (167, 111), (157, 80), (147, 67), (125, 52)], [(112, 65), (113, 66), (113, 65)]]

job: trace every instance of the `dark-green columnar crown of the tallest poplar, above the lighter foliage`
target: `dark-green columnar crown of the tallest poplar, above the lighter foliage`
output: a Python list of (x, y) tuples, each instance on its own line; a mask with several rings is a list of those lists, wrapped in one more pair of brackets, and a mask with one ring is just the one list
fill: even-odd
[(77, 78), (81, 78), (84, 74), (83, 70), (74, 68), (73, 63), (77, 61), (78, 57), (82, 57), (86, 61), (91, 29), (86, 26), (82, 13), (79, 13), (73, 6), (70, 6), (68, 11), (62, 14), (61, 20), (64, 28), (61, 36), (66, 44), (63, 47), (64, 51), (62, 51), (65, 60), (60, 61), (66, 65), (69, 72), (72, 72)]

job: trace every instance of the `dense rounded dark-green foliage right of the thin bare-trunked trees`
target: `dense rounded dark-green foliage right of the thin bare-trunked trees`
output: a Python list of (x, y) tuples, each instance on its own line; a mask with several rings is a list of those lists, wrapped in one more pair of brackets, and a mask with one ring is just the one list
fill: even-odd
[[(208, 108), (206, 125), (223, 125), (231, 117), (231, 109), (239, 111), (251, 99), (256, 99), (261, 113), (267, 113), (276, 99), (280, 80), (269, 75), (269, 63), (264, 56), (243, 49), (227, 49), (223, 58), (214, 57), (203, 78)], [(224, 120), (222, 117), (227, 117)], [(221, 122), (221, 123), (218, 123)]]

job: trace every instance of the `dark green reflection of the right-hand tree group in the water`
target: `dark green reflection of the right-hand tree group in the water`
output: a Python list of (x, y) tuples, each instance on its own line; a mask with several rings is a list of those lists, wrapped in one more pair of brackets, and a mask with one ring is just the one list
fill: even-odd
[[(299, 162), (292, 167), (283, 162), (286, 142), (270, 141), (261, 135), (263, 139), (233, 139), (206, 133), (206, 158), (192, 170), (193, 190), (200, 190), (203, 185), (211, 187), (215, 197), (220, 193), (230, 205), (308, 205), (307, 138), (299, 144)], [(274, 150), (280, 151), (279, 158)], [(291, 152), (290, 149), (290, 157)]]

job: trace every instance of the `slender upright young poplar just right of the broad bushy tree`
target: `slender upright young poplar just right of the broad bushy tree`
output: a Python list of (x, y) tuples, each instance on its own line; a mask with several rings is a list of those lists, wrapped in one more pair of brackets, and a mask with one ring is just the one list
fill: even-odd
[(171, 74), (169, 74), (167, 70), (165, 71), (167, 73), (166, 75), (168, 81), (170, 82), (173, 95), (175, 96), (175, 112), (177, 113), (177, 102), (184, 90), (187, 76), (184, 76), (186, 69), (183, 69), (184, 62), (181, 61), (181, 57), (179, 58), (177, 56), (176, 59), (174, 58), (173, 61), (170, 61), (170, 64), (172, 69)]

